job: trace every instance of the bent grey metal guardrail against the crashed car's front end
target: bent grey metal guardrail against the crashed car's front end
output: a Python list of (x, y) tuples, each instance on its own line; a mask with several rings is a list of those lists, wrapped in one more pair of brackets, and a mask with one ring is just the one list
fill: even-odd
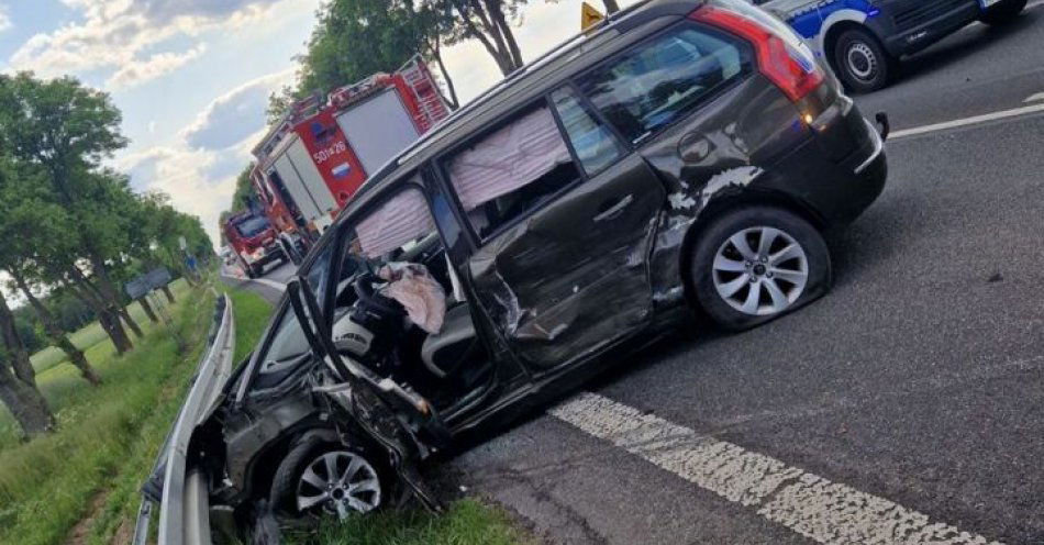
[[(235, 320), (229, 296), (218, 299), (209, 348), (199, 363), (191, 389), (159, 452), (153, 478), (143, 487), (142, 507), (134, 527), (134, 545), (144, 545), (159, 500), (159, 545), (210, 545), (210, 505), (207, 478), (189, 466), (189, 445), (196, 426), (212, 405), (232, 374)], [(162, 475), (162, 480), (158, 478)], [(159, 481), (157, 483), (157, 481)]]

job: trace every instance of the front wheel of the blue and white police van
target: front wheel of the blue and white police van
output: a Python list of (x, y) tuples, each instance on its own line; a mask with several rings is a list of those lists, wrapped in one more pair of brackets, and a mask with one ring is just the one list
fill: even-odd
[(874, 34), (863, 29), (845, 31), (834, 43), (834, 67), (845, 87), (853, 92), (876, 91), (886, 85), (899, 69), (899, 62), (890, 55)]

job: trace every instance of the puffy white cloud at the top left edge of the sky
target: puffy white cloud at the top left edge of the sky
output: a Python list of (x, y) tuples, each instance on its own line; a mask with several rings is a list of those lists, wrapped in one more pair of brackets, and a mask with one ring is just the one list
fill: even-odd
[(149, 47), (176, 36), (199, 36), (214, 29), (242, 26), (289, 0), (63, 0), (84, 20), (27, 40), (11, 65), (43, 76), (112, 69), (109, 82), (141, 82), (176, 69), (198, 56), (188, 51), (147, 55)]

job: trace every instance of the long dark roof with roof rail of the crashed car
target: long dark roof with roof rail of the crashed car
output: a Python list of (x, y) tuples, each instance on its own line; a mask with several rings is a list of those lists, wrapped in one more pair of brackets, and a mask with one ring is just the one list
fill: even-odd
[(502, 115), (532, 103), (573, 75), (680, 20), (703, 3), (703, 0), (645, 0), (614, 13), (596, 31), (578, 34), (527, 63), (463, 105), (375, 173), (353, 196), (332, 227), (366, 208), (388, 188), (407, 183), (417, 168), (488, 129)]

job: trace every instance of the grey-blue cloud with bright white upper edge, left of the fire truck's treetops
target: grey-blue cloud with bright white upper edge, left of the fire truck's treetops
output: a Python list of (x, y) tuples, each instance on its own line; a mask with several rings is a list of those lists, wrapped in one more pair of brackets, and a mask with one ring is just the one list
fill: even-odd
[(188, 147), (206, 149), (242, 142), (264, 127), (268, 94), (290, 82), (292, 77), (292, 69), (269, 74), (218, 97), (181, 130), (182, 140)]

